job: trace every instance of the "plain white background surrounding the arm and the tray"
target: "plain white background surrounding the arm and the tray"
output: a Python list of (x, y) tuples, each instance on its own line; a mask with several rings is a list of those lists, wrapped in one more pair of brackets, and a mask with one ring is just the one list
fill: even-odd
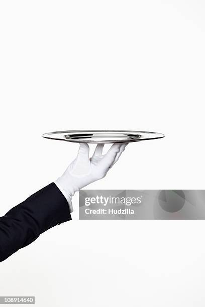
[[(87, 189), (204, 189), (204, 2), (10, 1), (0, 6), (1, 208), (59, 177), (63, 129), (165, 133), (132, 143)], [(93, 149), (93, 148), (92, 148)], [(0, 264), (0, 295), (36, 306), (204, 306), (204, 221), (79, 221)]]

